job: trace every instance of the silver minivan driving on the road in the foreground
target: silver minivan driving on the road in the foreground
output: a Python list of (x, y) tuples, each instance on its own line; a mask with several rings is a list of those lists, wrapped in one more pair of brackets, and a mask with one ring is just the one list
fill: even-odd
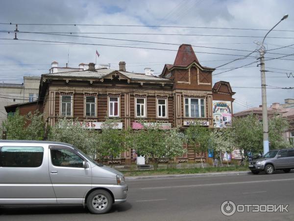
[(121, 172), (70, 144), (0, 140), (0, 205), (80, 204), (101, 214), (127, 191)]

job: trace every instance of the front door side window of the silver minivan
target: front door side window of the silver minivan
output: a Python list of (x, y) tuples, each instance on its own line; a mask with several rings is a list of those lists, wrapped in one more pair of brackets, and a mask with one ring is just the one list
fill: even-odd
[(83, 167), (83, 159), (71, 150), (54, 148), (50, 149), (51, 162), (54, 166)]

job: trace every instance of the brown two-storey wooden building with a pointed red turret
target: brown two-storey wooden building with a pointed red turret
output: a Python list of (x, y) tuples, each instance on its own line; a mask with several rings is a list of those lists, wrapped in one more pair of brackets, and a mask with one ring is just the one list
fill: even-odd
[[(140, 129), (138, 121), (142, 120), (160, 123), (162, 129), (185, 129), (196, 122), (213, 128), (217, 120), (230, 122), (234, 101), (230, 84), (218, 82), (213, 86), (215, 69), (202, 66), (191, 45), (181, 45), (174, 63), (166, 64), (159, 77), (149, 69), (146, 73), (128, 72), (123, 61), (119, 67), (97, 69), (90, 63), (88, 70), (42, 75), (38, 105), (44, 110), (47, 124), (55, 125), (59, 117), (78, 118), (88, 122), (89, 127), (95, 125), (95, 129), (100, 129), (105, 117), (121, 119), (121, 129)], [(223, 103), (214, 107), (214, 100)], [(214, 119), (214, 111), (226, 115)], [(201, 157), (207, 159), (206, 155), (189, 151), (181, 159), (200, 161)], [(122, 154), (125, 164), (133, 158), (131, 150)]]

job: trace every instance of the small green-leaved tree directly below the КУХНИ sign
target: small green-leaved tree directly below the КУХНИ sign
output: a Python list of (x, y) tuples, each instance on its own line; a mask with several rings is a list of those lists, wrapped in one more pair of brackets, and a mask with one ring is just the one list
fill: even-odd
[(208, 150), (209, 131), (200, 124), (191, 125), (186, 130), (188, 143), (193, 146), (194, 151), (201, 156), (201, 167), (203, 168), (202, 154)]

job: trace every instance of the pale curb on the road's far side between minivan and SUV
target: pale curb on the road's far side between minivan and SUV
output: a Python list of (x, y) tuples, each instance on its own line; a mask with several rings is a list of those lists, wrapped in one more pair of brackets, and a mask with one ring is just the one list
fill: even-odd
[(233, 172), (215, 172), (215, 173), (193, 173), (193, 174), (171, 174), (171, 175), (154, 175), (154, 176), (127, 176), (125, 180), (145, 180), (145, 179), (169, 179), (185, 178), (199, 176), (229, 176), (249, 173), (250, 171), (233, 171)]

